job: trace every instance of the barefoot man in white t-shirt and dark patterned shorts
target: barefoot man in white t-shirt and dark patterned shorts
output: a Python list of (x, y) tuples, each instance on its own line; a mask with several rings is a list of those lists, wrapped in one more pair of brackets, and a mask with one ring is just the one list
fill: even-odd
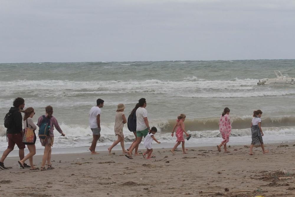
[(89, 111), (89, 126), (93, 134), (93, 140), (91, 143), (91, 146), (89, 147), (89, 150), (91, 151), (91, 154), (99, 154), (98, 152), (95, 152), (96, 143), (97, 140), (100, 138), (100, 114), (101, 109), (104, 106), (104, 100), (97, 99), (96, 100), (96, 106), (92, 107)]

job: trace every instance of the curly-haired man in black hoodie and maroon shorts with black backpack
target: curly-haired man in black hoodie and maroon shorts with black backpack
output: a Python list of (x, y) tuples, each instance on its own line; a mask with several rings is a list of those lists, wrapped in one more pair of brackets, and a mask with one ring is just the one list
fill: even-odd
[[(22, 130), (22, 114), (20, 110), (24, 109), (24, 99), (16, 98), (13, 101), (13, 107), (10, 108), (9, 112), (6, 114), (4, 119), (4, 126), (7, 128), (7, 138), (8, 138), (8, 147), (3, 152), (3, 155), (0, 159), (0, 168), (2, 170), (7, 169), (4, 166), (4, 159), (7, 155), (12, 152), (14, 149), (14, 145), (17, 144), (19, 148), (19, 159), (22, 160), (24, 158), (24, 148), (26, 147), (24, 143), (22, 143), (23, 138), (23, 130)], [(31, 167), (27, 164), (24, 164), (24, 167)]]

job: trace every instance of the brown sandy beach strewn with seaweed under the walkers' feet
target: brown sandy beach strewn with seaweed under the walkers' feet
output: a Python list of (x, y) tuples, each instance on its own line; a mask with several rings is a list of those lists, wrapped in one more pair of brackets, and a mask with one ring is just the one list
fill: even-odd
[[(189, 147), (188, 154), (154, 149), (156, 158), (127, 159), (122, 151), (109, 156), (90, 152), (53, 154), (55, 169), (20, 169), (18, 157), (8, 157), (1, 170), (1, 196), (295, 196), (294, 143), (266, 144), (262, 154), (248, 146)], [(178, 147), (178, 150), (181, 147)], [(54, 152), (53, 152), (54, 153)], [(40, 167), (41, 156), (34, 157)], [(280, 170), (284, 170), (283, 172)], [(289, 179), (278, 179), (286, 177)]]

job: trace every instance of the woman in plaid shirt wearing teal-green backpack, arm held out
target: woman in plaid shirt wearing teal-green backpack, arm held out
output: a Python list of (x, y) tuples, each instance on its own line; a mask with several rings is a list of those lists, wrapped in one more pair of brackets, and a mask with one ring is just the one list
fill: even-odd
[[(38, 119), (37, 125), (39, 126), (38, 136), (40, 138), (40, 142), (42, 146), (45, 146), (44, 154), (42, 157), (42, 165), (41, 171), (43, 170), (51, 170), (54, 169), (51, 165), (51, 146), (53, 146), (53, 126), (55, 126), (56, 130), (62, 135), (65, 136), (60, 126), (58, 125), (58, 121), (56, 118), (52, 116), (53, 108), (48, 105), (45, 108), (45, 115), (42, 115)], [(45, 168), (45, 163), (47, 161), (47, 168)]]

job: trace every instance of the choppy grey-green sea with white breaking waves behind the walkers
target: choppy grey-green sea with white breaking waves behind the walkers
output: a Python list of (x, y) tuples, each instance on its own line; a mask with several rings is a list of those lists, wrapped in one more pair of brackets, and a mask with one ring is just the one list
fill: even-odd
[[(264, 143), (295, 142), (295, 85), (258, 86), (263, 78), (275, 78), (274, 70), (295, 77), (295, 60), (135, 61), (0, 64), (0, 151), (7, 148), (4, 116), (13, 100), (22, 97), (25, 108), (36, 115), (53, 107), (53, 116), (66, 134), (55, 130), (53, 148), (90, 146), (89, 110), (103, 99), (101, 138), (108, 146), (117, 137), (114, 121), (117, 105), (125, 105), (128, 117), (137, 101), (147, 101), (150, 126), (158, 128), (161, 144), (173, 144), (171, 131), (180, 113), (192, 135), (186, 146), (213, 146), (222, 141), (219, 118), (230, 108), (231, 144), (250, 144), (254, 110), (260, 109)], [(123, 129), (127, 148), (135, 139)], [(120, 145), (118, 145), (120, 146)], [(36, 148), (42, 149), (37, 140)], [(98, 150), (100, 148), (98, 147)]]

